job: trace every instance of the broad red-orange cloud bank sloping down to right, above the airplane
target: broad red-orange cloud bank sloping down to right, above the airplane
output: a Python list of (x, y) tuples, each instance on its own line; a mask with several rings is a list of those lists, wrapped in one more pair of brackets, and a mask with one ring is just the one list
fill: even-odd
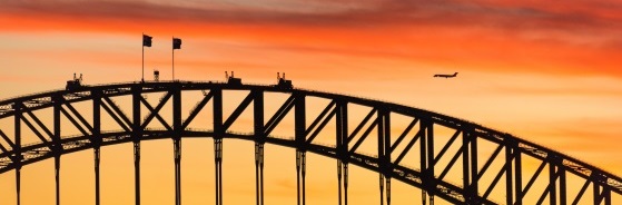
[(3, 1), (0, 16), (10, 18), (0, 18), (0, 23), (18, 31), (175, 32), (292, 52), (407, 59), (495, 72), (622, 77), (622, 62), (612, 60), (622, 58), (622, 14), (615, 12), (621, 6), (487, 0)]

